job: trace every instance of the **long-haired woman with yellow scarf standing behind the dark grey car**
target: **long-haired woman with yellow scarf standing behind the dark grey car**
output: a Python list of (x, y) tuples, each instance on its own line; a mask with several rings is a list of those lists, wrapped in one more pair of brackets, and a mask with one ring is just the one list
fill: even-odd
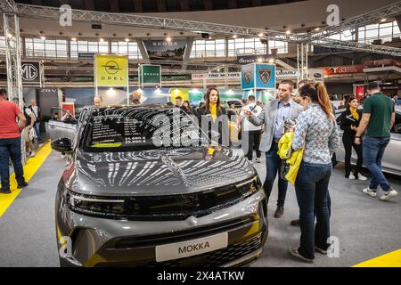
[[(197, 118), (199, 125), (202, 127), (202, 121), (208, 121), (208, 130), (204, 130), (209, 134), (209, 138), (213, 139), (216, 135), (212, 134), (210, 130), (218, 130), (218, 142), (224, 142), (229, 145), (230, 137), (228, 130), (228, 118), (226, 117), (226, 110), (221, 106), (220, 94), (216, 87), (209, 87), (205, 94), (205, 105), (197, 111)], [(223, 116), (223, 118), (221, 118)]]

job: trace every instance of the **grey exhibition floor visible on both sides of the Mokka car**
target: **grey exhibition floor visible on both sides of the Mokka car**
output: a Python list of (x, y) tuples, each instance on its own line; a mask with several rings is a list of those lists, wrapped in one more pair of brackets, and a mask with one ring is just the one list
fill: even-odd
[[(256, 164), (262, 181), (264, 160)], [(58, 266), (54, 230), (54, 197), (64, 168), (63, 159), (52, 152), (29, 187), (21, 191), (0, 218), (0, 266)], [(339, 238), (340, 257), (316, 255), (315, 264), (292, 259), (288, 248), (299, 244), (299, 228), (290, 225), (299, 208), (293, 186), (289, 186), (285, 215), (275, 219), (274, 191), (269, 203), (269, 237), (261, 258), (252, 267), (265, 266), (350, 266), (401, 248), (401, 195), (389, 202), (372, 199), (361, 190), (367, 183), (348, 181), (340, 165), (333, 171), (331, 235)], [(401, 177), (392, 176), (393, 186), (401, 191)]]

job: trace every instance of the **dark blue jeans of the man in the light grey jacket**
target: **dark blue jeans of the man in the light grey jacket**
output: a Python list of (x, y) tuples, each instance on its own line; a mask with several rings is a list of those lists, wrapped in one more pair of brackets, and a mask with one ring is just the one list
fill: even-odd
[[(266, 180), (263, 184), (263, 187), (266, 191), (267, 200), (270, 197), (273, 189), (273, 183), (275, 180), (275, 176), (279, 174), (280, 171), (280, 164), (282, 163), (282, 159), (280, 159), (279, 155), (277, 154), (278, 151), (278, 143), (272, 142), (272, 147), (270, 151), (266, 152)], [(283, 180), (279, 176), (278, 181), (278, 199), (277, 199), (277, 206), (284, 206), (285, 196), (287, 194), (288, 188), (288, 181)]]

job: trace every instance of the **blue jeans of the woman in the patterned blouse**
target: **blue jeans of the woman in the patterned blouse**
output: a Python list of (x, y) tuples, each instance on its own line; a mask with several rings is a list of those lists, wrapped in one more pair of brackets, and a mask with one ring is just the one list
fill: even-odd
[(302, 162), (295, 181), (301, 229), (298, 250), (301, 256), (310, 259), (315, 258), (315, 246), (321, 249), (329, 247), (330, 215), (327, 200), (330, 176), (331, 164)]

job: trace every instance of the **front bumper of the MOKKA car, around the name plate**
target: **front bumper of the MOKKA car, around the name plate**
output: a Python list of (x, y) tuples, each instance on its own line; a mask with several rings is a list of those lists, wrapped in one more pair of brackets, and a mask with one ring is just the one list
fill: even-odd
[[(60, 199), (58, 199), (60, 200)], [(56, 206), (57, 207), (57, 206)], [(119, 221), (82, 216), (65, 204), (56, 216), (58, 246), (69, 236), (71, 255), (61, 257), (71, 266), (238, 266), (256, 259), (267, 237), (266, 196), (258, 191), (248, 199), (208, 216), (184, 221)], [(196, 240), (227, 232), (225, 248), (164, 262), (156, 262), (160, 245)]]

